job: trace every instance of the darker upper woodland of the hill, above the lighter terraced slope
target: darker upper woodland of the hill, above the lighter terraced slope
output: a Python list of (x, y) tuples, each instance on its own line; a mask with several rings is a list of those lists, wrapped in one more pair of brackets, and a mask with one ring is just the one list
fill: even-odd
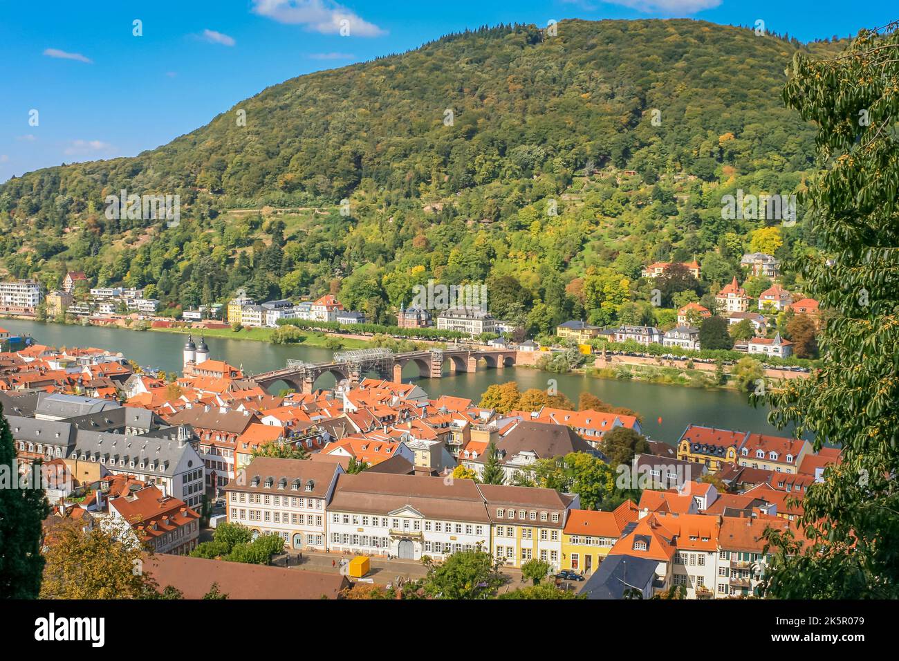
[(690, 20), (564, 21), (556, 37), (533, 26), (485, 29), (299, 76), (165, 147), (46, 168), (0, 190), (4, 210), (55, 221), (58, 195), (77, 211), (99, 205), (104, 187), (338, 201), (364, 177), (418, 195), (422, 185), (456, 192), (538, 171), (564, 181), (591, 160), (641, 172), (673, 161), (707, 174), (705, 159), (728, 132), (725, 159), (736, 167), (796, 169), (809, 162), (812, 131), (784, 109), (780, 88), (797, 48), (806, 47)]

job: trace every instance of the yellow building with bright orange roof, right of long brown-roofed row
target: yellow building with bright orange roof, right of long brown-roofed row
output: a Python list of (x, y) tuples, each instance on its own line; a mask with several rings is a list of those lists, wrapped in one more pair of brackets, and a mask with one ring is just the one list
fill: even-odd
[(636, 522), (637, 518), (636, 505), (631, 500), (625, 501), (613, 512), (571, 510), (562, 531), (560, 568), (590, 576), (609, 555), (628, 523)]

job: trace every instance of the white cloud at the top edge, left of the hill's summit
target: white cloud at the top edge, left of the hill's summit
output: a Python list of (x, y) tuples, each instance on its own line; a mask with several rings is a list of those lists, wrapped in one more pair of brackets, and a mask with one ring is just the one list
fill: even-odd
[(304, 25), (308, 30), (322, 34), (340, 34), (344, 25), (349, 27), (351, 37), (387, 34), (387, 31), (334, 0), (253, 0), (253, 11), (272, 21)]

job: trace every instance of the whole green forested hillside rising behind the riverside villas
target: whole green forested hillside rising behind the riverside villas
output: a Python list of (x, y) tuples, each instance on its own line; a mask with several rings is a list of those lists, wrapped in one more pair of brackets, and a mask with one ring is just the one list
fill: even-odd
[[(670, 283), (663, 307), (713, 306), (744, 250), (814, 251), (801, 208), (791, 227), (725, 220), (721, 198), (804, 187), (814, 128), (783, 105), (785, 69), (842, 48), (690, 20), (449, 35), (274, 85), (133, 158), (13, 178), (0, 264), (49, 288), (84, 270), (172, 308), (334, 291), (387, 323), (433, 278), (486, 282), (492, 311), (533, 334), (670, 321), (642, 264), (697, 258), (700, 281)], [(108, 219), (120, 189), (180, 195), (180, 225)]]

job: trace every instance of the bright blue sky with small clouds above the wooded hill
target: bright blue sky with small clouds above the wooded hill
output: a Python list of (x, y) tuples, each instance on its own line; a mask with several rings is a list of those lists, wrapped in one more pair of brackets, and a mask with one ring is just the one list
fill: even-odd
[[(845, 0), (53, 0), (0, 4), (0, 182), (133, 156), (268, 85), (499, 22), (684, 17), (814, 40), (897, 18)], [(134, 21), (142, 36), (135, 36)], [(341, 34), (349, 26), (349, 35)], [(36, 110), (37, 126), (31, 125)]]

